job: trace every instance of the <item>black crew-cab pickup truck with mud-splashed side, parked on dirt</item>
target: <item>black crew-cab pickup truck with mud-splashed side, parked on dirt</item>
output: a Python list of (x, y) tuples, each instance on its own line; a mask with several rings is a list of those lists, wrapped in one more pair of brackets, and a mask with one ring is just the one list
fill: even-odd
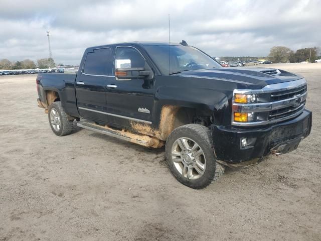
[(77, 73), (38, 74), (37, 90), (56, 135), (77, 123), (146, 147), (166, 145), (173, 175), (192, 188), (209, 185), (225, 166), (290, 152), (311, 131), (303, 77), (223, 68), (185, 41), (91, 47)]

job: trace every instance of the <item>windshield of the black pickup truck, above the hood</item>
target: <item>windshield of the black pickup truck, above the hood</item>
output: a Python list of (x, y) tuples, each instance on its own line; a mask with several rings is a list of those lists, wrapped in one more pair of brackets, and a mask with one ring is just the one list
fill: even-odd
[(148, 45), (144, 48), (163, 74), (222, 67), (210, 56), (192, 46), (171, 45), (169, 49), (168, 45)]

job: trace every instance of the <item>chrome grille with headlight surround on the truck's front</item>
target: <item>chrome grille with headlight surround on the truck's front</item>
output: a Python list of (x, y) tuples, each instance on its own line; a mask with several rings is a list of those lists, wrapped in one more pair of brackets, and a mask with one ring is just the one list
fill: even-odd
[[(250, 103), (236, 103), (235, 94), (256, 96)], [(307, 87), (304, 78), (266, 85), (262, 89), (234, 89), (232, 125), (260, 126), (285, 121), (301, 114), (305, 107)], [(234, 113), (248, 113), (250, 121), (234, 121)]]

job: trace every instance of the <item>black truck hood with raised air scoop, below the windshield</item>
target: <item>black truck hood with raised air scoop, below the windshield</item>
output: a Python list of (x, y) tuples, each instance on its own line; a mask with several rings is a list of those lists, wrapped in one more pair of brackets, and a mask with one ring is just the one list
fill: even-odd
[(177, 76), (216, 79), (250, 86), (251, 89), (301, 79), (293, 73), (273, 68), (213, 68), (183, 71)]

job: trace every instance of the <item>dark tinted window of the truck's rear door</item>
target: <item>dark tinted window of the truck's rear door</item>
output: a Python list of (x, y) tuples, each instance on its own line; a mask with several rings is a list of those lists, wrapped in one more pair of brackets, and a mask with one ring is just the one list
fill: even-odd
[(112, 75), (111, 52), (111, 48), (100, 48), (87, 53), (83, 73), (91, 75)]

